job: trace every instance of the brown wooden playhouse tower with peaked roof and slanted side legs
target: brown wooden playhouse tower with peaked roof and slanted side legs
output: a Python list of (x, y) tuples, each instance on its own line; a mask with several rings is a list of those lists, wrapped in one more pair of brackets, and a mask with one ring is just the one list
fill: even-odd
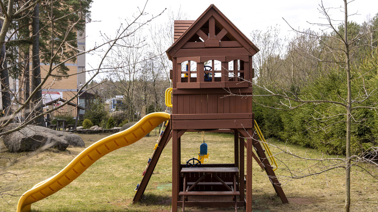
[[(177, 207), (237, 207), (252, 211), (252, 159), (268, 174), (283, 203), (280, 182), (253, 130), (252, 56), (259, 49), (213, 4), (195, 21), (174, 22), (173, 108), (151, 163), (133, 199), (138, 202), (172, 138), (172, 211)], [(228, 129), (234, 133), (235, 163), (181, 164), (181, 136), (187, 131)], [(257, 156), (253, 153), (256, 151)], [(244, 161), (244, 155), (247, 160)], [(244, 165), (246, 164), (246, 169)], [(246, 173), (246, 177), (245, 177)], [(244, 183), (246, 180), (246, 184)], [(246, 191), (246, 192), (245, 192)]]

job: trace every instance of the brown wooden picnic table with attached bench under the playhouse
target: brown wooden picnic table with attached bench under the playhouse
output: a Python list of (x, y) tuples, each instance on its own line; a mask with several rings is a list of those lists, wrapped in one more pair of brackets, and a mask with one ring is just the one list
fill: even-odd
[[(236, 175), (239, 173), (237, 167), (190, 167), (182, 168), (181, 173), (184, 175), (184, 191), (179, 192), (179, 196), (182, 196), (182, 211), (185, 211), (185, 196), (234, 196), (235, 211), (237, 210), (237, 196), (240, 195), (239, 191), (236, 191)], [(204, 173), (196, 182), (188, 182), (187, 175), (189, 173)], [(231, 173), (233, 175), (233, 182), (224, 182), (216, 173)], [(200, 182), (206, 175), (214, 174), (213, 176), (219, 182)], [(228, 191), (192, 191), (196, 185), (224, 185)], [(231, 185), (231, 186), (229, 186)]]

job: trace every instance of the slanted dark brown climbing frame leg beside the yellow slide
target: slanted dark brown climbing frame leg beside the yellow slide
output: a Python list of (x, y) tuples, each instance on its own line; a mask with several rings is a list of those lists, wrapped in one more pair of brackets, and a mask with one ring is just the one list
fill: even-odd
[(144, 193), (144, 191), (147, 187), (147, 184), (150, 181), (152, 173), (154, 172), (157, 161), (160, 158), (161, 152), (163, 151), (164, 147), (167, 145), (168, 141), (172, 137), (171, 132), (172, 132), (171, 124), (168, 122), (167, 127), (165, 128), (163, 135), (160, 137), (160, 139), (157, 143), (157, 147), (156, 147), (154, 153), (151, 156), (151, 161), (147, 165), (146, 169), (143, 172), (144, 175), (142, 176), (142, 181), (139, 184), (139, 187), (136, 189), (135, 196), (133, 198), (133, 204), (137, 203), (141, 199), (141, 197), (142, 197), (142, 195), (143, 195), (143, 193)]

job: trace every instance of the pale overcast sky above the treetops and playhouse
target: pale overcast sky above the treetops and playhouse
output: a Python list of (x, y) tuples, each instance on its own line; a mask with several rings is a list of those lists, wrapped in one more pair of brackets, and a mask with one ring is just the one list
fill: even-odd
[[(299, 30), (319, 30), (319, 26), (310, 23), (325, 23), (324, 16), (319, 12), (321, 0), (149, 0), (145, 11), (149, 14), (148, 17), (151, 17), (167, 8), (163, 15), (151, 23), (160, 25), (168, 21), (168, 13), (176, 14), (178, 10), (189, 16), (188, 19), (195, 20), (212, 3), (249, 37), (252, 43), (252, 30), (266, 30), (270, 26), (278, 25), (283, 36), (290, 36), (292, 32), (287, 23)], [(144, 4), (144, 0), (94, 0), (91, 8), (92, 21), (86, 25), (86, 49), (101, 43), (101, 33), (114, 35), (120, 24), (125, 23), (125, 19), (131, 19), (138, 12), (138, 7), (143, 8)], [(341, 9), (337, 9), (344, 6), (343, 0), (323, 0), (323, 5), (331, 8), (332, 19), (344, 19)], [(373, 17), (377, 13), (378, 0), (352, 0), (348, 4), (348, 20), (359, 24), (368, 16)], [(86, 55), (87, 70), (97, 67), (98, 64), (98, 56)]]

